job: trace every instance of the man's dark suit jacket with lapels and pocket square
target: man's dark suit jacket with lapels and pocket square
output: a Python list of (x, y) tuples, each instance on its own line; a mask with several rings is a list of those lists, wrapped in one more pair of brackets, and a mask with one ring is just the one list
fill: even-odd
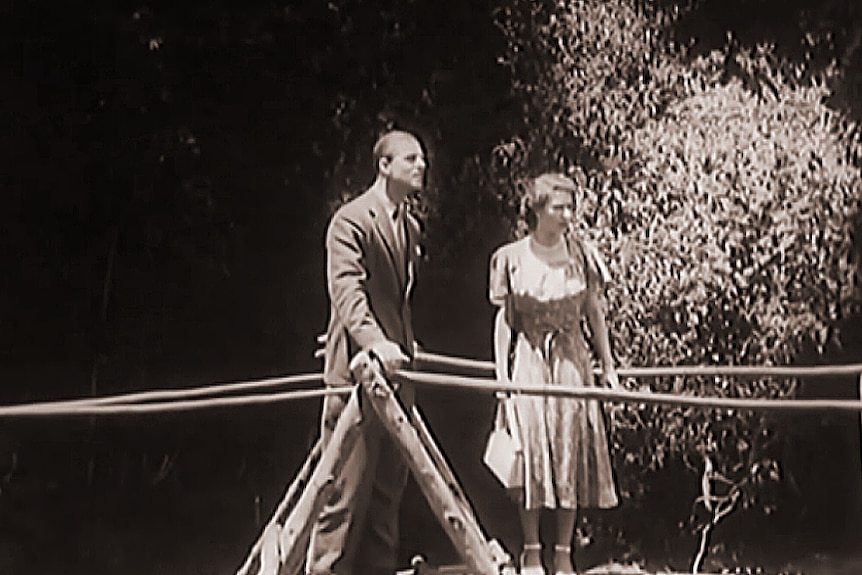
[(396, 252), (391, 215), (368, 190), (341, 206), (326, 232), (329, 327), (324, 381), (352, 383), (348, 365), (359, 351), (391, 340), (413, 355), (410, 292), (420, 259), (419, 223), (405, 214), (406, 242)]

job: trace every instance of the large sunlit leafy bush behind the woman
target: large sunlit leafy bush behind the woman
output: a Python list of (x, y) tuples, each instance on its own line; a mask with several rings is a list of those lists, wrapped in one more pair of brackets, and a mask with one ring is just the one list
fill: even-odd
[[(840, 342), (858, 295), (860, 130), (826, 103), (839, 68), (813, 72), (732, 34), (695, 54), (674, 34), (686, 14), (631, 0), (505, 3), (498, 21), (528, 121), (497, 148), (499, 181), (588, 169), (581, 222), (616, 278), (622, 365), (785, 365)], [(643, 387), (784, 398), (795, 382)], [(692, 481), (719, 479), (734, 505), (770, 513), (782, 475), (775, 427), (763, 413), (626, 406), (615, 412), (619, 477), (639, 499), (680, 461)]]

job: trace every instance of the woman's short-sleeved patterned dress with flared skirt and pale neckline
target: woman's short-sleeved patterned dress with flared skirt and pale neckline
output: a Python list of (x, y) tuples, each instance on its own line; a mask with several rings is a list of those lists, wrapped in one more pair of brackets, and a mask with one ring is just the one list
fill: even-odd
[[(599, 305), (607, 271), (574, 238), (545, 248), (530, 236), (491, 258), (490, 299), (506, 306), (514, 383), (595, 385), (582, 320)], [(527, 509), (614, 507), (617, 500), (602, 409), (595, 400), (516, 395)]]

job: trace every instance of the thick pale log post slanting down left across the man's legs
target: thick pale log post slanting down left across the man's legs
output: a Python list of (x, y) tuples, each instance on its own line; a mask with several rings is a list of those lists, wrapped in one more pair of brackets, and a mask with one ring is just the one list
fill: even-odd
[[(359, 438), (362, 422), (359, 393), (360, 388), (357, 387), (350, 395), (332, 437), (284, 524), (279, 525), (279, 516), (286, 509), (280, 506), (237, 575), (249, 575), (254, 559), (257, 559), (257, 575), (294, 575), (299, 572), (305, 561), (311, 527), (332, 495), (344, 463)], [(294, 481), (296, 489), (292, 491), (295, 493), (302, 483), (297, 478)], [(293, 493), (289, 492), (289, 496), (293, 499)], [(287, 506), (288, 503), (285, 503), (284, 507)]]

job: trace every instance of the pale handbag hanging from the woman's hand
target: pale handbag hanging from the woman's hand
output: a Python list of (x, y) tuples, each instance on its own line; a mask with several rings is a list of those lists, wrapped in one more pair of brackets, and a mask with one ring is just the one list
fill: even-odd
[(524, 449), (518, 435), (512, 398), (497, 402), (494, 428), (488, 436), (482, 461), (507, 489), (524, 486)]

